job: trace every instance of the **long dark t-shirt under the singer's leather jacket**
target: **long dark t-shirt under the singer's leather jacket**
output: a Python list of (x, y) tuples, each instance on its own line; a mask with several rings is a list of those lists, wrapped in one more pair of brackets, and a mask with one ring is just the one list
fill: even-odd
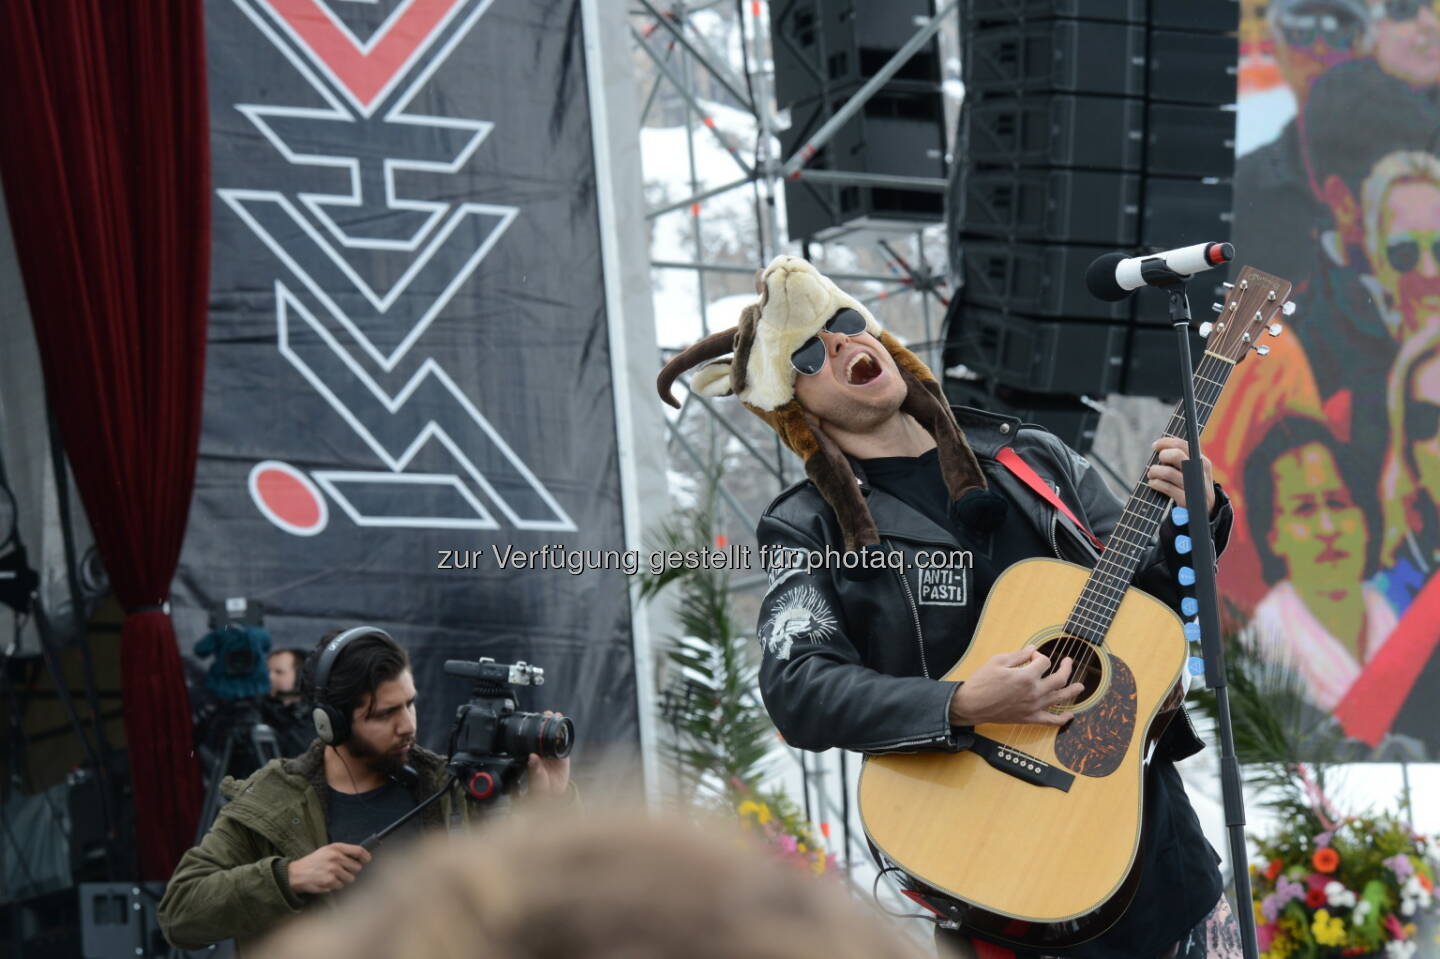
[[(1051, 556), (1050, 543), (1011, 507), (991, 533), (976, 533), (949, 517), (950, 494), (940, 475), (937, 451), (920, 456), (886, 456), (861, 461), (870, 485), (884, 490), (933, 523), (955, 534), (973, 553), (971, 603), (963, 628), (973, 632), (995, 577), (1011, 563)], [(1182, 720), (1175, 720), (1182, 721)], [(1198, 924), (1220, 899), (1220, 858), (1189, 805), (1174, 763), (1156, 760), (1146, 770), (1145, 821), (1149, 828), (1140, 848), (1140, 884), (1130, 909), (1109, 932), (1053, 955), (1086, 959), (1143, 959), (1158, 956)], [(1028, 953), (1018, 953), (1028, 955)]]

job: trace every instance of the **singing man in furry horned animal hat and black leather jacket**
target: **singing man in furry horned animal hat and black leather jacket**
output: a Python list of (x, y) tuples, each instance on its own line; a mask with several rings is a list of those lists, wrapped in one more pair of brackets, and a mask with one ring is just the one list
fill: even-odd
[[(1204, 252), (1187, 255), (1202, 259)], [(1122, 294), (1142, 282), (1129, 264), (1107, 268), (1117, 272), (1109, 285)], [(805, 461), (808, 478), (760, 517), (762, 554), (900, 550), (912, 560), (903, 569), (788, 563), (768, 570), (757, 623), (760, 688), (785, 740), (884, 757), (971, 750), (981, 723), (1066, 724), (1071, 713), (1063, 704), (1081, 688), (1068, 657), (1051, 659), (1030, 647), (994, 657), (963, 683), (940, 677), (965, 654), (992, 583), (1012, 563), (1094, 562), (1092, 534), (1109, 537), (1120, 520), (1115, 495), (1051, 433), (952, 409), (919, 357), (806, 261), (776, 258), (759, 275), (757, 292), (734, 328), (665, 366), (661, 397), (674, 403), (672, 383), (694, 369), (693, 392), (737, 396)], [(1182, 504), (1185, 445), (1168, 436), (1155, 448), (1145, 482)], [(1208, 510), (1223, 546), (1231, 510), (1208, 482), (1208, 462), (1205, 478), (1208, 503), (1197, 507)], [(1166, 536), (1172, 541), (1174, 528)], [(1175, 553), (1145, 546), (1136, 585), (1178, 608)], [(917, 551), (936, 547), (968, 550), (973, 562), (919, 570)], [(1240, 955), (1218, 858), (1174, 766), (1201, 747), (1184, 716), (1166, 727), (1146, 773), (1153, 834), (1140, 854), (1139, 891), (1109, 932), (1060, 955)], [(1007, 828), (1022, 824), (994, 825)], [(942, 929), (937, 942), (942, 955), (976, 955), (968, 936)]]

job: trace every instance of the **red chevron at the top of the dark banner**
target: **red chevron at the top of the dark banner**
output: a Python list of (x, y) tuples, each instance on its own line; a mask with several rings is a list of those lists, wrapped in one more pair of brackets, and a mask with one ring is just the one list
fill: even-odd
[(318, 0), (262, 0), (284, 20), (310, 56), (330, 69), (369, 108), (410, 56), (429, 42), (446, 14), (464, 0), (410, 0), (409, 6), (363, 50), (341, 30)]

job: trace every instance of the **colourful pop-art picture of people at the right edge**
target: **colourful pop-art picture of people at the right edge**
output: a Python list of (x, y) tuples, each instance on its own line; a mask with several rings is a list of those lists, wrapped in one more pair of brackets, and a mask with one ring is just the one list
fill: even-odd
[(1247, 0), (1238, 111), (1237, 261), (1297, 311), (1208, 431), (1221, 593), (1356, 756), (1440, 760), (1440, 4)]

